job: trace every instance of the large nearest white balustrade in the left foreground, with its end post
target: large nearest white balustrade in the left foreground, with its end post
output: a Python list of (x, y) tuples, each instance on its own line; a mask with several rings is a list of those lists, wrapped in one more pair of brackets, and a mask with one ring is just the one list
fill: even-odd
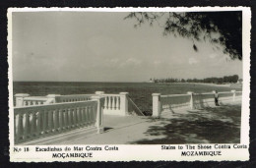
[(102, 130), (103, 99), (14, 108), (15, 142), (60, 134), (82, 127)]

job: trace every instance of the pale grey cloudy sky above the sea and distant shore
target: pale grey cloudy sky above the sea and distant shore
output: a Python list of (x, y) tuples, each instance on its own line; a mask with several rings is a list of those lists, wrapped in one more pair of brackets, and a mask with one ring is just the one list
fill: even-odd
[(148, 24), (134, 28), (128, 13), (15, 12), (13, 80), (43, 82), (147, 82), (151, 78), (203, 79), (238, 75), (212, 44), (162, 35)]

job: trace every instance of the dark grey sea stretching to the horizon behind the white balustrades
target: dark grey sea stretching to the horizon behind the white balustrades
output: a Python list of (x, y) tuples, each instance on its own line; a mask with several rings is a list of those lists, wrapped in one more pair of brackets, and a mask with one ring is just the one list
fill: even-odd
[(241, 90), (241, 87), (219, 86), (218, 84), (186, 84), (186, 83), (91, 83), (91, 82), (14, 82), (13, 93), (29, 93), (31, 96), (47, 94), (89, 94), (96, 91), (105, 93), (129, 92), (131, 99), (144, 112), (152, 112), (152, 93), (183, 94), (188, 91), (196, 93), (213, 90)]

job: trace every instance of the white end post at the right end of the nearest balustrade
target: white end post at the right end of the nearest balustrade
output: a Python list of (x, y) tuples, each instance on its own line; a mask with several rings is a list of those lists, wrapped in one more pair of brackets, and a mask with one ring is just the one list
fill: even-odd
[(103, 104), (104, 98), (100, 96), (93, 96), (92, 99), (96, 100), (96, 129), (97, 134), (103, 133)]

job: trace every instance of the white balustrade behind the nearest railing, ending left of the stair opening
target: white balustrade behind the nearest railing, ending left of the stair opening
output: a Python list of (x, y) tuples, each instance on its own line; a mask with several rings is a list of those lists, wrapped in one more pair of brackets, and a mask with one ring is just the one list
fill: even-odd
[[(20, 93), (16, 94), (15, 96), (17, 102), (16, 107), (23, 107), (41, 104), (89, 101), (92, 100), (92, 97), (96, 95), (104, 99), (104, 114), (125, 116), (129, 115), (129, 110), (135, 110), (137, 112), (136, 114), (143, 114), (132, 100), (129, 101), (128, 92), (120, 92), (119, 94), (105, 94), (103, 91), (96, 91), (95, 94), (48, 94), (47, 96), (30, 96), (30, 94)], [(129, 109), (128, 105), (130, 105)]]

